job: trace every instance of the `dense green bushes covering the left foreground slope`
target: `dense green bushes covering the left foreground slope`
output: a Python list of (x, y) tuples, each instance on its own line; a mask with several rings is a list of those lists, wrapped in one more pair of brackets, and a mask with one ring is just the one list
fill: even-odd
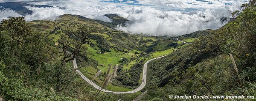
[[(75, 71), (67, 64), (61, 65), (58, 49), (49, 45), (43, 33), (32, 31), (23, 17), (0, 22), (0, 45), (0, 95), (4, 100), (76, 101), (49, 90), (70, 90), (66, 86), (74, 84)], [(58, 76), (62, 77), (61, 83), (56, 82)]]

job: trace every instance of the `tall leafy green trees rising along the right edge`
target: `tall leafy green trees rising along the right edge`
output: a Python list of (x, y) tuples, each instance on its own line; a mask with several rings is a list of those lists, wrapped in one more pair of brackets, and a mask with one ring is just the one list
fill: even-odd
[(231, 38), (224, 49), (239, 58), (238, 67), (242, 67), (242, 78), (256, 81), (256, 1), (250, 0), (241, 8), (244, 9), (236, 21), (227, 25), (227, 33), (230, 33)]

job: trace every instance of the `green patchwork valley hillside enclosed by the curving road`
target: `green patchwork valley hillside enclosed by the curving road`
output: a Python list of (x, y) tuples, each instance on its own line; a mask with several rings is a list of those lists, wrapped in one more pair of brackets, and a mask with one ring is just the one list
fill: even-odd
[[(109, 65), (119, 64), (118, 76), (108, 86), (108, 90), (128, 91), (136, 88), (142, 80), (143, 64), (152, 58), (168, 55), (178, 49), (179, 41), (173, 38), (131, 35), (114, 28), (128, 22), (116, 14), (108, 14), (112, 22), (88, 19), (84, 16), (64, 14), (55, 21), (35, 20), (27, 22), (33, 30), (44, 32), (52, 41), (52, 46), (58, 46), (60, 33), (66, 28), (77, 30), (79, 25), (95, 27), (96, 33), (90, 35), (91, 42), (87, 45), (87, 56), (78, 57), (81, 72), (93, 78), (102, 70), (105, 73)], [(186, 37), (189, 39), (189, 37)], [(104, 74), (95, 80), (101, 84)]]

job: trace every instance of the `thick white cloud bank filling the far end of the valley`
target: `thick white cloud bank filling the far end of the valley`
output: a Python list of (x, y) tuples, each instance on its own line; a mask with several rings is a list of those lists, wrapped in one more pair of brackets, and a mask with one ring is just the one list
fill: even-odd
[(141, 13), (128, 12), (127, 19), (131, 24), (127, 24), (125, 27), (119, 26), (117, 29), (128, 33), (147, 35), (176, 36), (208, 28), (216, 29), (222, 26), (220, 18), (225, 15), (225, 12), (220, 12), (221, 16), (214, 15), (215, 10), (200, 11), (197, 14), (182, 14), (178, 11), (162, 12), (154, 8), (131, 9), (131, 11), (141, 11)]

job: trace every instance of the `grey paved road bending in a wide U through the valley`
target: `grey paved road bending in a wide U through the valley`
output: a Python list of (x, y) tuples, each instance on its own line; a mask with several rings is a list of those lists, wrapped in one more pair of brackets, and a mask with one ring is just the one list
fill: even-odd
[[(162, 56), (162, 57), (165, 57), (165, 56)], [(156, 59), (159, 59), (159, 58), (162, 58), (162, 57), (157, 57), (157, 58), (154, 58), (154, 59), (151, 59), (151, 60), (156, 60)], [(144, 67), (143, 67), (143, 81), (141, 82), (141, 85), (140, 87), (134, 89), (134, 90), (131, 90), (131, 91), (127, 91), (127, 92), (113, 92), (113, 91), (109, 91), (109, 90), (105, 90), (105, 89), (102, 89), (103, 92), (106, 92), (106, 93), (116, 93), (116, 94), (127, 94), (127, 93), (136, 93), (140, 90), (143, 89), (143, 87), (145, 87), (146, 85), (146, 82), (147, 82), (147, 66), (148, 66), (148, 63), (151, 61), (151, 60), (148, 60), (145, 64), (144, 64)], [(78, 72), (80, 74), (80, 76), (88, 83), (90, 83), (90, 85), (92, 85), (93, 87), (95, 87), (96, 89), (101, 89), (101, 87), (99, 87), (98, 85), (96, 85), (95, 83), (93, 83), (92, 81), (90, 81), (90, 79), (88, 79), (87, 77), (85, 77), (81, 72), (80, 70), (78, 69), (77, 67), (77, 64), (76, 64), (76, 58), (73, 60), (73, 65), (74, 65), (74, 68), (76, 70), (76, 72)]]

